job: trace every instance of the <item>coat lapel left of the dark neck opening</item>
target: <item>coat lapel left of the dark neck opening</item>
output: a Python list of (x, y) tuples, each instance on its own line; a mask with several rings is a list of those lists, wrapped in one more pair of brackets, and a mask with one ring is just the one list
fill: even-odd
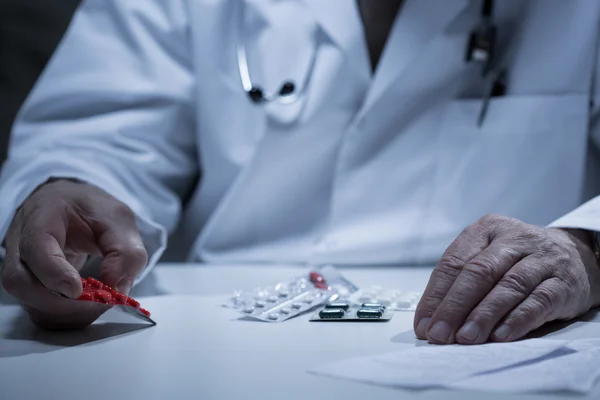
[(302, 0), (325, 34), (345, 54), (360, 78), (371, 79), (371, 67), (356, 0)]

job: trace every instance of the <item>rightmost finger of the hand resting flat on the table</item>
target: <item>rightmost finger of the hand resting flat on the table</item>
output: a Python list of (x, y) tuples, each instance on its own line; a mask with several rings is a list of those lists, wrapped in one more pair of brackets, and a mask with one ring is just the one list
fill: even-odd
[(546, 279), (540, 283), (494, 330), (491, 339), (510, 342), (552, 321), (566, 304), (569, 293), (562, 289), (559, 278)]

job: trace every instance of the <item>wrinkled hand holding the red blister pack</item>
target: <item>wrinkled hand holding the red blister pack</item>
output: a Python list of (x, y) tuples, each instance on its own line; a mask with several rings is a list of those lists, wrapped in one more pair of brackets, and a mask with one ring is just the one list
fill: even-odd
[(128, 293), (147, 261), (131, 210), (106, 192), (56, 180), (40, 186), (17, 212), (6, 236), (2, 285), (32, 321), (48, 329), (91, 324), (108, 306), (76, 302), (79, 270), (88, 255), (101, 255), (100, 277)]

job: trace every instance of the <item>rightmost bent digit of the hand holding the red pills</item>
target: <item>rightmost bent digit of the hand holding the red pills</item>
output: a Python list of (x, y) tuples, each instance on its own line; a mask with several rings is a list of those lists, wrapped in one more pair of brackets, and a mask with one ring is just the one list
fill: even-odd
[(104, 257), (100, 275), (103, 282), (128, 294), (146, 266), (148, 254), (129, 207), (116, 203), (109, 210), (105, 218), (90, 221)]

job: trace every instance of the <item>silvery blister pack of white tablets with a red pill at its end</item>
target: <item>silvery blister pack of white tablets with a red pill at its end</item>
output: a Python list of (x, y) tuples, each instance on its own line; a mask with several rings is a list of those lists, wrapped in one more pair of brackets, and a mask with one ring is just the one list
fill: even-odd
[(234, 292), (224, 306), (239, 310), (247, 318), (283, 322), (356, 290), (333, 266), (324, 266), (290, 281)]

